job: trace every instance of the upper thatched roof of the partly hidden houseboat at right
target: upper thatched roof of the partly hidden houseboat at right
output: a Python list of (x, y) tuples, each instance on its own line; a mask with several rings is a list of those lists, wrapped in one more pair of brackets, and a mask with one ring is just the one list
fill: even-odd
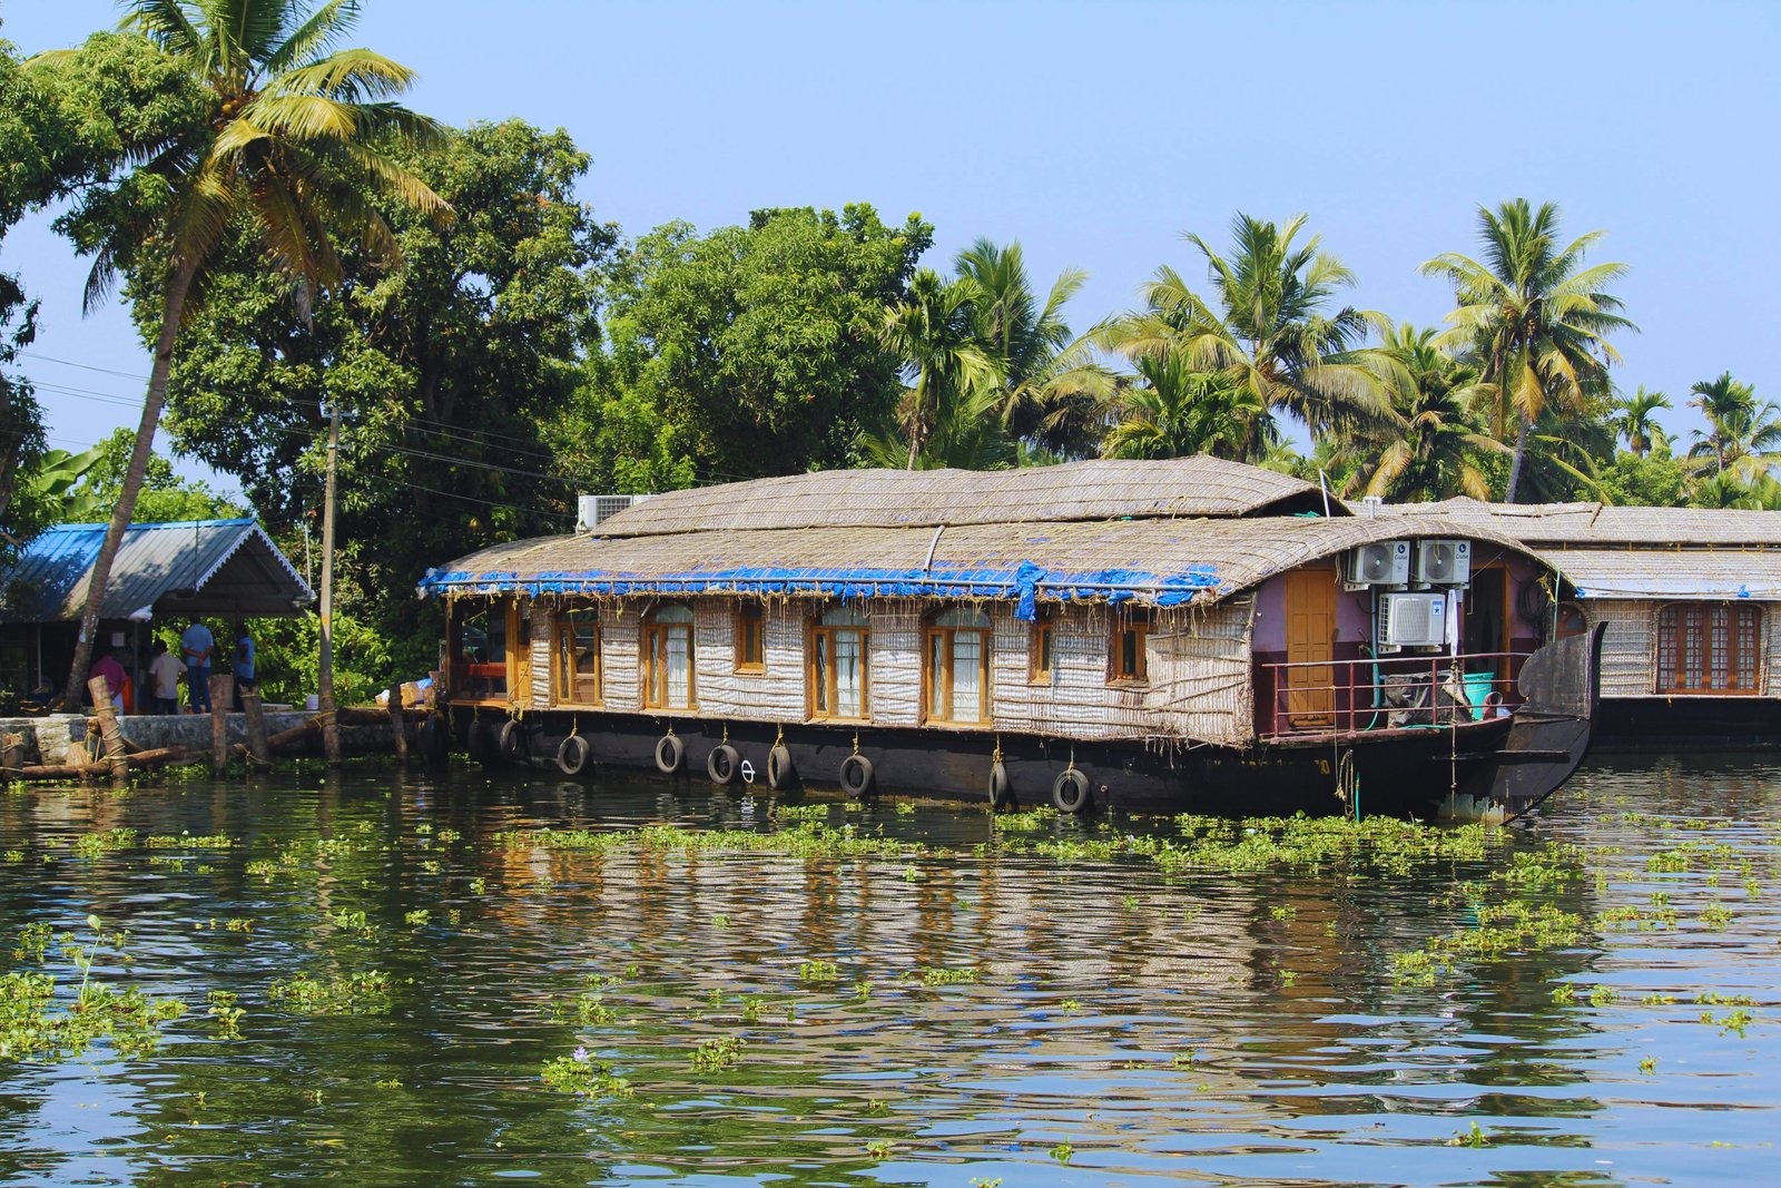
[[(1348, 504), (1359, 517), (1368, 504)], [(1380, 517), (1435, 517), (1494, 527), (1530, 545), (1633, 545), (1656, 549), (1781, 547), (1781, 511), (1708, 508), (1614, 508), (1576, 504), (1485, 504), (1446, 499), (1434, 504), (1377, 504)]]

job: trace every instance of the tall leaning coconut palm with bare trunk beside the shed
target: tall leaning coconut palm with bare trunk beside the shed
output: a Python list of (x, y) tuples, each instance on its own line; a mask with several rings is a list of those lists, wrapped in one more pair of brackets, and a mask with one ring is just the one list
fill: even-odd
[[(146, 217), (125, 217), (85, 244), (93, 255), (89, 305), (121, 267), (160, 267), (160, 331), (142, 422), (93, 563), (80, 643), (64, 705), (85, 682), (112, 559), (142, 488), (180, 326), (203, 299), (205, 276), (224, 240), (251, 228), (269, 267), (289, 274), (299, 301), (340, 280), (335, 239), (356, 239), (372, 258), (397, 260), (395, 239), (372, 207), (392, 198), (447, 216), (445, 201), (394, 155), (438, 135), (431, 119), (394, 102), (413, 73), (370, 50), (335, 50), (358, 20), (354, 0), (313, 12), (305, 0), (126, 0), (121, 28), (153, 41), (203, 91), (210, 118), (141, 164), (132, 182), (162, 192)], [(69, 52), (36, 62), (55, 68)]]

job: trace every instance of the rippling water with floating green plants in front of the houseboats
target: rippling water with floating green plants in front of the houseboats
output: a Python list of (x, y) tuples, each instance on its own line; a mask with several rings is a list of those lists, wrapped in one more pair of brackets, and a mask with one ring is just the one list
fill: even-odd
[[(0, 1183), (1631, 1184), (1776, 1167), (1774, 759), (1601, 761), (1532, 828), (1396, 871), (1170, 875), (1070, 857), (1170, 835), (1167, 819), (1004, 830), (896, 801), (826, 819), (919, 851), (497, 839), (769, 830), (771, 809), (474, 769), (0, 794), (0, 972), (50, 969), (69, 1001), (69, 955), (14, 940), (48, 923), (91, 946), (93, 914), (128, 930), (121, 953), (93, 951), (94, 983), (187, 1005), (146, 1053), (0, 1058)], [(118, 828), (137, 834), (94, 839)], [(1492, 878), (1514, 869), (1549, 878)], [(1460, 880), (1484, 891), (1468, 903)], [(1580, 939), (1400, 974), (1396, 955), (1478, 935), (1478, 901), (1512, 894), (1583, 917)], [(272, 997), (299, 972), (381, 972), (386, 997)], [(239, 1038), (214, 990), (237, 996)], [(547, 1062), (607, 1062), (632, 1092), (559, 1092)]]

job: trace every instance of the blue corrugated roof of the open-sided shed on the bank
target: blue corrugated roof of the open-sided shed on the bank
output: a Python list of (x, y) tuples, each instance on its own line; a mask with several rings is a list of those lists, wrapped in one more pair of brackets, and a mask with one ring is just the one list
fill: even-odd
[[(80, 618), (103, 524), (62, 524), (27, 545), (0, 575), (0, 620)], [(303, 577), (253, 520), (132, 524), (102, 614), (290, 614), (313, 600)]]

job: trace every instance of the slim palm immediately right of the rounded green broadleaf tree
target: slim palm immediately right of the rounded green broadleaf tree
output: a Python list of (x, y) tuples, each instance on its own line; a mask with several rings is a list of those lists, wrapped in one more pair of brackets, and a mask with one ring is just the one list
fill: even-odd
[(908, 297), (885, 312), (880, 340), (915, 378), (898, 406), (908, 470), (921, 460), (942, 410), (971, 403), (999, 379), (996, 362), (976, 338), (981, 296), (969, 276), (947, 281), (933, 269), (919, 269), (908, 281)]

